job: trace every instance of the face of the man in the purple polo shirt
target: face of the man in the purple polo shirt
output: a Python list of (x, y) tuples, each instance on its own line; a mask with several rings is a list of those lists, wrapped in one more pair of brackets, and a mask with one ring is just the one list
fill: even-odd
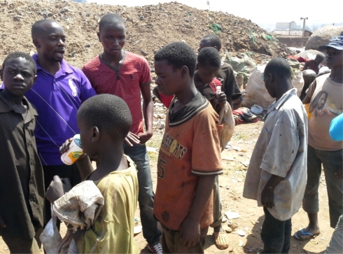
[(45, 23), (45, 31), (34, 40), (38, 54), (42, 54), (49, 62), (61, 62), (66, 47), (66, 34), (60, 24)]

